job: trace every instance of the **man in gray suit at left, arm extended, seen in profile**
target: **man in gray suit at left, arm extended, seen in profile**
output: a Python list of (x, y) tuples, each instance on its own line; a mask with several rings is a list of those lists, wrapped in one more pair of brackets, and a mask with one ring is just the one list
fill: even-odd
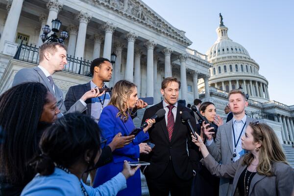
[(85, 101), (88, 98), (98, 97), (99, 91), (96, 92), (94, 89), (87, 91), (68, 111), (66, 110), (63, 103), (63, 93), (58, 86), (54, 84), (52, 78), (52, 75), (55, 72), (62, 71), (67, 64), (66, 54), (66, 48), (64, 45), (52, 42), (44, 43), (39, 48), (39, 66), (35, 68), (24, 68), (18, 71), (14, 76), (12, 86), (23, 82), (40, 82), (55, 96), (57, 106), (61, 113), (83, 112), (87, 109)]

